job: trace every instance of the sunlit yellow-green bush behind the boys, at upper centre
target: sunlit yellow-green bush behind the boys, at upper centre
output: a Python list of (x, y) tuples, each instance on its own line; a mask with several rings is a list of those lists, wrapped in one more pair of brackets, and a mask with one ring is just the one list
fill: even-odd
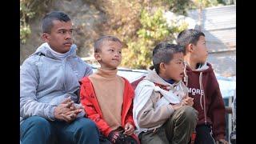
[[(108, 21), (101, 27), (103, 34), (113, 34), (125, 43), (122, 65), (133, 69), (146, 69), (151, 65), (151, 55), (158, 42), (174, 40), (174, 34), (186, 29), (187, 24), (173, 22), (167, 25), (163, 12), (179, 5), (179, 14), (187, 10), (183, 0), (170, 5), (169, 0), (98, 0), (94, 4), (106, 13)], [(188, 5), (188, 4), (187, 4)]]

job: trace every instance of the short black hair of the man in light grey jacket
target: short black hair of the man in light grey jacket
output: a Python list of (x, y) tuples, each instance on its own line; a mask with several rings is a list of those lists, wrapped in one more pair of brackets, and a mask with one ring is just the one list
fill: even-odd
[(53, 23), (54, 20), (58, 20), (61, 22), (69, 22), (70, 17), (67, 14), (63, 13), (62, 11), (53, 11), (46, 14), (46, 16), (42, 18), (43, 33), (50, 34), (51, 28), (54, 26), (54, 23)]

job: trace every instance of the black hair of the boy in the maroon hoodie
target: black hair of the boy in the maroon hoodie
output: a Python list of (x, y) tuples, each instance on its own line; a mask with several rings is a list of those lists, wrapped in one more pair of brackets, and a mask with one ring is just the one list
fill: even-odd
[(200, 36), (205, 37), (205, 34), (203, 34), (200, 30), (183, 30), (178, 34), (177, 44), (184, 48), (184, 54), (186, 54), (186, 46), (188, 46), (190, 43), (196, 45)]

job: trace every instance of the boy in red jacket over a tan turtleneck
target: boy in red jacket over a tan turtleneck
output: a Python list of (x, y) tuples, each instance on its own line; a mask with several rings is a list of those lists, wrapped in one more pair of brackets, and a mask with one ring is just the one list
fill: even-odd
[(82, 78), (80, 98), (87, 117), (98, 126), (102, 143), (139, 143), (134, 134), (132, 101), (134, 90), (117, 75), (122, 60), (122, 42), (103, 36), (94, 43), (94, 58), (101, 67)]

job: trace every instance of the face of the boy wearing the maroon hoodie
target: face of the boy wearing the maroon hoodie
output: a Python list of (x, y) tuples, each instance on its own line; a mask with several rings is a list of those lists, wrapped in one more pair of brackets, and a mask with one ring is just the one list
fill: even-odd
[(193, 45), (193, 50), (191, 51), (193, 55), (194, 61), (199, 63), (206, 62), (206, 58), (208, 56), (208, 50), (206, 47), (206, 38), (204, 36), (200, 36), (197, 42), (197, 45)]

